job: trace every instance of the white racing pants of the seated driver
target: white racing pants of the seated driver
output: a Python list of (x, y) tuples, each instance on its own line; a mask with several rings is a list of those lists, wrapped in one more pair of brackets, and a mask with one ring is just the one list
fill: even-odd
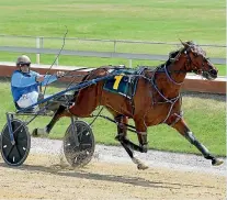
[(30, 107), (37, 102), (38, 99), (38, 92), (32, 91), (30, 93), (23, 95), (18, 101), (18, 105), (22, 109)]

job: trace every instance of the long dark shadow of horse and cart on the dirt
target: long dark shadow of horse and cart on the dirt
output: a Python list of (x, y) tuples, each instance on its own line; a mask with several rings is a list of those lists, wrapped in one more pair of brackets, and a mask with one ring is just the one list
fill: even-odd
[[(7, 164), (0, 163), (0, 167), (9, 168)], [(181, 189), (182, 186), (184, 187), (202, 187), (198, 185), (186, 185), (182, 182), (167, 182), (167, 181), (150, 181), (139, 177), (128, 177), (128, 176), (117, 176), (117, 175), (103, 175), (97, 173), (88, 173), (83, 168), (77, 169), (64, 169), (64, 168), (56, 168), (55, 166), (45, 167), (39, 165), (22, 165), (19, 167), (10, 167), (16, 170), (29, 170), (29, 171), (44, 171), (57, 176), (66, 176), (66, 177), (76, 177), (76, 178), (83, 178), (88, 180), (103, 180), (110, 182), (122, 182), (128, 184), (133, 186), (140, 186), (146, 188), (166, 188), (166, 189)], [(211, 187), (212, 188), (212, 187)]]

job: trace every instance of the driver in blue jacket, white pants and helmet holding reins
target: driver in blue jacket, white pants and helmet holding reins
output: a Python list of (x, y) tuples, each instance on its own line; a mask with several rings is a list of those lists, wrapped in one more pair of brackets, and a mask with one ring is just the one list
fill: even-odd
[(22, 55), (16, 59), (16, 70), (11, 77), (11, 91), (16, 109), (23, 109), (37, 102), (38, 87), (46, 86), (64, 76), (64, 71), (56, 75), (39, 75), (31, 70), (31, 59)]

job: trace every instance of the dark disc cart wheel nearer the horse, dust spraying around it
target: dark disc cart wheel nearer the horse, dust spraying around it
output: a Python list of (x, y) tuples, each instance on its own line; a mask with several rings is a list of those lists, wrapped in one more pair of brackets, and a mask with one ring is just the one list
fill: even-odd
[[(94, 135), (88, 123), (75, 121), (75, 131), (70, 124), (64, 137), (64, 154), (72, 167), (87, 165), (94, 153)], [(78, 146), (76, 145), (76, 136)]]

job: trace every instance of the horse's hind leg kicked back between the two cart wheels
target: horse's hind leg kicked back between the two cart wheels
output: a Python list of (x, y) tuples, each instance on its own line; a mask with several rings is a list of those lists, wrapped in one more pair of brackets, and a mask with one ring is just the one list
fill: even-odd
[(32, 132), (33, 136), (38, 135), (47, 135), (56, 124), (56, 122), (63, 118), (63, 116), (71, 116), (71, 114), (68, 112), (67, 108), (65, 105), (60, 105), (58, 110), (55, 112), (55, 115), (53, 116), (52, 121), (44, 127), (44, 129), (34, 129)]

